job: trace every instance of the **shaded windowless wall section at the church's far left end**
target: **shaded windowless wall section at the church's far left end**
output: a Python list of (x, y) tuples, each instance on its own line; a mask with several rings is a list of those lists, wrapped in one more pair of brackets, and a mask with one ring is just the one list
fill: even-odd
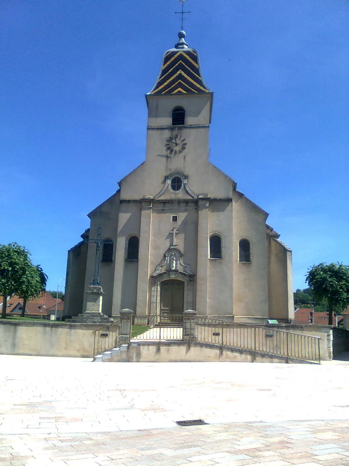
[(64, 315), (82, 312), (86, 274), (87, 243), (81, 242), (68, 251)]

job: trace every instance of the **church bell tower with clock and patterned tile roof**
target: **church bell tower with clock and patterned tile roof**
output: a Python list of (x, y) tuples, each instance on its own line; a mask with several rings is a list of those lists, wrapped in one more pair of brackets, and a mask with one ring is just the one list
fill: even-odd
[[(165, 52), (159, 76), (146, 94), (148, 105), (146, 160), (161, 173), (189, 176), (195, 165), (208, 161), (208, 130), (213, 93), (205, 84), (199, 55), (189, 48), (186, 33), (178, 33), (175, 48)], [(162, 157), (159, 157), (162, 156)]]

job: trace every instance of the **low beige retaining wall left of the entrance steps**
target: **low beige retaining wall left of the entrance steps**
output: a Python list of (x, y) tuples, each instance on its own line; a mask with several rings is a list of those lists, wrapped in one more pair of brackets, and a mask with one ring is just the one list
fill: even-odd
[(92, 357), (101, 325), (0, 321), (0, 354)]

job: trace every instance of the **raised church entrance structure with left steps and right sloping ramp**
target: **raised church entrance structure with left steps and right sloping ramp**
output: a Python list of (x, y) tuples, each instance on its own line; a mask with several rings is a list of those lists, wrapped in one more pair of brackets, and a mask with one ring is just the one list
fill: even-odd
[[(140, 317), (146, 319), (147, 316)], [(107, 328), (105, 326), (95, 331), (95, 341), (99, 341), (99, 332), (107, 332)], [(128, 337), (123, 336), (123, 340), (121, 336), (111, 338), (109, 346), (105, 344), (103, 351), (99, 351), (98, 355), (94, 353), (94, 361), (219, 360), (320, 364), (320, 337), (283, 329), (184, 316), (182, 322), (160, 321), (148, 326), (148, 330), (132, 338), (131, 331)]]

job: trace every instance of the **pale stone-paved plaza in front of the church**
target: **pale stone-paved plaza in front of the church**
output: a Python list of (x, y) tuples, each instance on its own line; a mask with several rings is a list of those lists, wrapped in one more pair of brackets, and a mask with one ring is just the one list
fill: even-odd
[(0, 466), (349, 465), (346, 361), (0, 364)]

